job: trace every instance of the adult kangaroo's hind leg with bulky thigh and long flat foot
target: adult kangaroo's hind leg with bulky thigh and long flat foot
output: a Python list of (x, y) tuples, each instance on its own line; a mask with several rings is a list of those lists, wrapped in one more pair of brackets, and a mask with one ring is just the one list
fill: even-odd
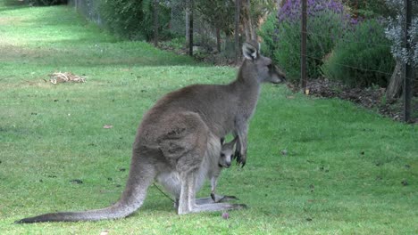
[[(180, 174), (178, 214), (221, 211), (245, 207), (226, 203), (196, 205), (196, 181), (208, 167), (204, 163), (211, 136), (205, 122), (194, 112), (180, 112), (167, 120), (171, 123), (166, 134), (159, 138), (159, 149), (168, 162), (175, 163)], [(217, 140), (217, 142), (219, 142)], [(209, 155), (213, 156), (213, 155)], [(219, 158), (216, 155), (216, 158)]]

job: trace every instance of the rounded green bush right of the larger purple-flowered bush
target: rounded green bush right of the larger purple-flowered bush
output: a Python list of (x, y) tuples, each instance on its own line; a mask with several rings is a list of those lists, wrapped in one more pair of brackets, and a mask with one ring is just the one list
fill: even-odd
[(322, 66), (323, 74), (351, 86), (387, 86), (395, 68), (389, 48), (380, 21), (364, 20), (339, 40)]

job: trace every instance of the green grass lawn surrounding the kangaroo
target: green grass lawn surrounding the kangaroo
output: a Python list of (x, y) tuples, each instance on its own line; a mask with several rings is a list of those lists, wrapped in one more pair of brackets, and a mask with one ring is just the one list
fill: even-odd
[[(69, 7), (0, 3), (0, 71), (1, 234), (418, 233), (417, 126), (274, 85), (251, 121), (247, 166), (222, 173), (218, 191), (249, 207), (229, 220), (176, 215), (152, 186), (129, 218), (13, 224), (119, 199), (146, 109), (185, 85), (227, 83), (236, 69), (122, 42)], [(88, 82), (46, 83), (54, 71)]]

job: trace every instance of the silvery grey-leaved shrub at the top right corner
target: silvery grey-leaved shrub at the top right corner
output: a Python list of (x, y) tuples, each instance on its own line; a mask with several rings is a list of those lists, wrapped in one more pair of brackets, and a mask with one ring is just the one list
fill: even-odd
[(408, 29), (409, 44), (411, 50), (407, 51), (404, 45), (405, 36), (405, 5), (401, 0), (386, 0), (386, 3), (397, 12), (396, 18), (389, 19), (389, 26), (386, 28), (386, 36), (392, 41), (392, 54), (399, 61), (412, 64), (418, 68), (418, 2), (412, 1), (415, 15), (412, 20), (412, 25)]

